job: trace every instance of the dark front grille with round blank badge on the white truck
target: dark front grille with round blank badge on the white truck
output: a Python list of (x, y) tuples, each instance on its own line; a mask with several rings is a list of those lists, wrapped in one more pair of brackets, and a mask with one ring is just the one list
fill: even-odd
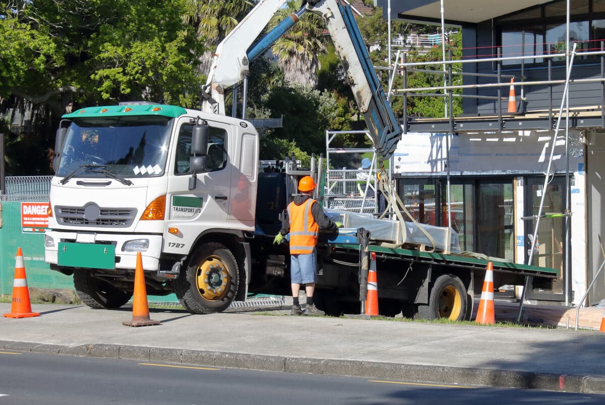
[[(94, 205), (90, 210), (90, 204), (86, 207), (56, 206), (55, 216), (61, 225), (75, 226), (117, 226), (126, 228), (132, 225), (137, 216), (136, 208), (99, 208)], [(85, 215), (85, 210), (93, 211), (93, 217)], [(98, 212), (98, 214), (97, 214)]]

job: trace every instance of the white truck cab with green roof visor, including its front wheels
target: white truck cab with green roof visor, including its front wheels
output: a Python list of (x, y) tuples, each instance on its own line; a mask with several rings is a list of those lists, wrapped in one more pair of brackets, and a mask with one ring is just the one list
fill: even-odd
[[(192, 288), (213, 309), (228, 305), (238, 280), (246, 280), (242, 242), (254, 230), (255, 128), (146, 103), (82, 108), (63, 118), (45, 234), (51, 268), (74, 275), (87, 305), (116, 308), (132, 295), (141, 252), (149, 294), (169, 294), (178, 283), (180, 298)], [(208, 241), (214, 249), (200, 256)], [(205, 260), (188, 263), (209, 275), (195, 270), (195, 280), (179, 281), (188, 257)]]

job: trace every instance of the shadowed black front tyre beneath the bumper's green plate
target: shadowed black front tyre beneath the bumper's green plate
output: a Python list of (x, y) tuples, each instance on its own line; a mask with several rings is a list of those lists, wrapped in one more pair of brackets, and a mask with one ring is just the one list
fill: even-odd
[(80, 301), (94, 309), (120, 308), (132, 297), (131, 291), (122, 291), (85, 270), (74, 271), (74, 287)]

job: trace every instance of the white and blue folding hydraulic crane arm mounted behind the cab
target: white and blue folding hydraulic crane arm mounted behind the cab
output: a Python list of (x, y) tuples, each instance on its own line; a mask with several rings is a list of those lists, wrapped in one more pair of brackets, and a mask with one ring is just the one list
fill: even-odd
[(401, 139), (401, 126), (376, 76), (350, 6), (338, 0), (303, 2), (301, 10), (249, 47), (283, 3), (283, 0), (261, 0), (218, 45), (204, 88), (203, 110), (224, 114), (223, 89), (241, 81), (247, 74), (249, 63), (296, 24), (300, 16), (305, 12), (315, 13), (324, 18), (344, 67), (345, 83), (350, 85), (359, 110), (364, 115), (376, 153), (382, 159), (388, 159)]

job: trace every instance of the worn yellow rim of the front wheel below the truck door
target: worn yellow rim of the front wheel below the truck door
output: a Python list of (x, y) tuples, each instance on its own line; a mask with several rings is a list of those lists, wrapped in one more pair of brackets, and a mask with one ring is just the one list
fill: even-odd
[(223, 298), (231, 283), (229, 268), (218, 256), (208, 256), (200, 263), (195, 274), (195, 284), (198, 292), (208, 301), (218, 301)]

